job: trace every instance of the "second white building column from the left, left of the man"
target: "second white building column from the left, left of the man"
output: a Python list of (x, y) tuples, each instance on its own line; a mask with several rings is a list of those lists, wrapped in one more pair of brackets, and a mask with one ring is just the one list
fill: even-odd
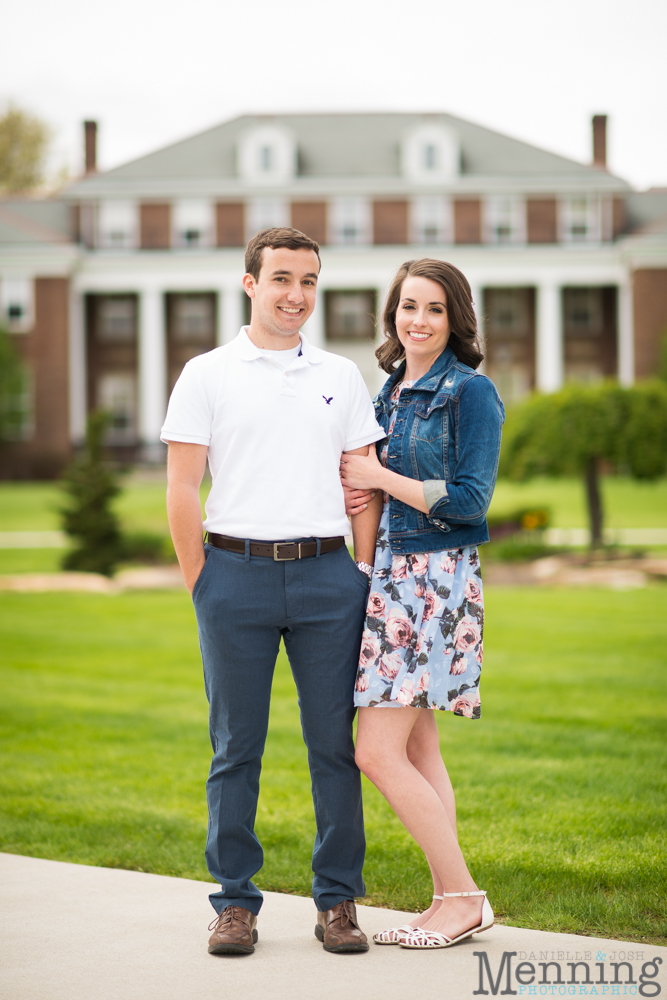
[(164, 296), (147, 288), (139, 303), (139, 439), (148, 461), (162, 454), (160, 428), (167, 409), (167, 344)]

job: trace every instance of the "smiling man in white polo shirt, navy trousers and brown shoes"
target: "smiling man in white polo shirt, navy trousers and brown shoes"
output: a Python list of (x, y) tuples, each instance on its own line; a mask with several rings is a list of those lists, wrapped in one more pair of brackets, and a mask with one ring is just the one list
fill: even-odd
[(315, 933), (328, 951), (367, 951), (353, 901), (364, 894), (365, 840), (352, 718), (377, 511), (369, 504), (353, 519), (355, 565), (339, 462), (343, 452), (367, 454), (384, 432), (356, 366), (299, 332), (315, 306), (318, 244), (269, 229), (245, 261), (250, 325), (188, 362), (161, 435), (169, 524), (210, 704), (206, 860), (220, 891), (209, 897), (218, 914), (209, 951), (247, 954), (257, 941), (262, 894), (251, 879), (263, 853), (254, 821), (281, 637), (312, 779)]

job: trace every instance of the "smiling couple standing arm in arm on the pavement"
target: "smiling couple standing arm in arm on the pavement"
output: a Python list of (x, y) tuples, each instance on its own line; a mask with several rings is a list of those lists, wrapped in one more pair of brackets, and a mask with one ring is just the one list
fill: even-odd
[(354, 905), (365, 891), (361, 770), (433, 876), (428, 909), (374, 940), (447, 947), (493, 923), (458, 845), (433, 714), (480, 713), (476, 546), (488, 541), (503, 409), (475, 371), (470, 287), (442, 261), (399, 268), (376, 352), (389, 377), (374, 409), (356, 366), (299, 332), (315, 306), (318, 244), (265, 230), (245, 266), (250, 325), (188, 362), (162, 429), (169, 522), (210, 704), (206, 860), (220, 891), (209, 951), (247, 954), (257, 941), (254, 823), (281, 638), (312, 779), (317, 938), (327, 951), (368, 950)]

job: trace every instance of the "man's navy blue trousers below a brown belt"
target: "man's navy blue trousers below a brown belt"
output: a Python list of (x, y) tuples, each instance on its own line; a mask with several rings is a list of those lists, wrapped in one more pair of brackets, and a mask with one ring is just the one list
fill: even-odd
[(264, 859), (254, 825), (281, 637), (308, 748), (315, 905), (328, 910), (363, 896), (366, 842), (352, 720), (366, 577), (346, 548), (274, 562), (206, 545), (192, 596), (213, 746), (206, 862), (221, 886), (209, 897), (214, 909), (234, 904), (257, 914), (262, 905), (251, 881)]

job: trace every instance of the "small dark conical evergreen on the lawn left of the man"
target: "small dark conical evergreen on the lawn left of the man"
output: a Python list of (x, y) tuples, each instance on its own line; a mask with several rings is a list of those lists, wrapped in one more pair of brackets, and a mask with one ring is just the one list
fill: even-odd
[(63, 568), (105, 576), (111, 576), (122, 557), (120, 525), (111, 506), (120, 486), (104, 461), (108, 424), (106, 413), (89, 417), (84, 452), (63, 477), (69, 503), (61, 510), (63, 530), (75, 542), (63, 560)]

